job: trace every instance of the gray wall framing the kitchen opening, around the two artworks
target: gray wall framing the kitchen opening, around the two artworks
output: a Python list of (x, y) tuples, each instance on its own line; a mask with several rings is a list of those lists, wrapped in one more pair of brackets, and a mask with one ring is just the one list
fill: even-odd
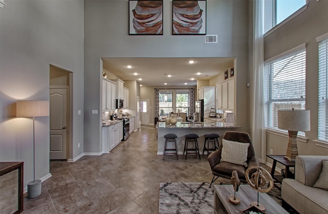
[(248, 1), (207, 1), (207, 34), (217, 34), (217, 44), (205, 44), (203, 35), (173, 36), (169, 0), (163, 1), (163, 35), (129, 35), (128, 4), (85, 1), (85, 152), (101, 150), (101, 115), (91, 114), (100, 110), (100, 57), (236, 57), (237, 122), (249, 131)]

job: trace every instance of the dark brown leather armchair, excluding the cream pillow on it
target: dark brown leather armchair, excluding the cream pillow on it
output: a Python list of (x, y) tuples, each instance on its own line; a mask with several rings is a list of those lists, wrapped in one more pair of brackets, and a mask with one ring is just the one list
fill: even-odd
[[(208, 156), (208, 161), (210, 163), (212, 174), (213, 174), (213, 179), (210, 184), (210, 187), (212, 183), (219, 177), (230, 179), (233, 170), (237, 171), (238, 177), (241, 182), (247, 183), (247, 180), (245, 178), (245, 172), (247, 168), (254, 165), (255, 166), (260, 165), (259, 161), (255, 157), (254, 147), (250, 135), (248, 133), (243, 133), (243, 132), (226, 132), (223, 135), (223, 139), (250, 144), (247, 152), (248, 166), (245, 167), (243, 165), (238, 165), (234, 163), (220, 162), (221, 151), (222, 151), (222, 142), (220, 142), (219, 149)], [(217, 178), (215, 178), (215, 176), (217, 176)]]

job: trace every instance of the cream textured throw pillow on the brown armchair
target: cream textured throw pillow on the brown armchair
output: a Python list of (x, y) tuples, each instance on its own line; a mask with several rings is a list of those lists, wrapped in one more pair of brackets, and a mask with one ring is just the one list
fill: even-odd
[(247, 149), (249, 146), (249, 143), (222, 139), (220, 162), (229, 162), (247, 167)]

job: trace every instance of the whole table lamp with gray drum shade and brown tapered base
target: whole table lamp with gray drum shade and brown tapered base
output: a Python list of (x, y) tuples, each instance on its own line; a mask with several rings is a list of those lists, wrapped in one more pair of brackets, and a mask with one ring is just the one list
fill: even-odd
[(297, 132), (310, 131), (310, 110), (278, 110), (278, 128), (288, 130), (289, 142), (285, 159), (294, 161), (297, 152)]

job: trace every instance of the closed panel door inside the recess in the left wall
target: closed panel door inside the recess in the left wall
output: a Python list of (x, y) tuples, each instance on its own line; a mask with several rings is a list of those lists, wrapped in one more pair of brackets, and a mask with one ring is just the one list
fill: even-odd
[(50, 88), (50, 160), (67, 160), (68, 88)]

